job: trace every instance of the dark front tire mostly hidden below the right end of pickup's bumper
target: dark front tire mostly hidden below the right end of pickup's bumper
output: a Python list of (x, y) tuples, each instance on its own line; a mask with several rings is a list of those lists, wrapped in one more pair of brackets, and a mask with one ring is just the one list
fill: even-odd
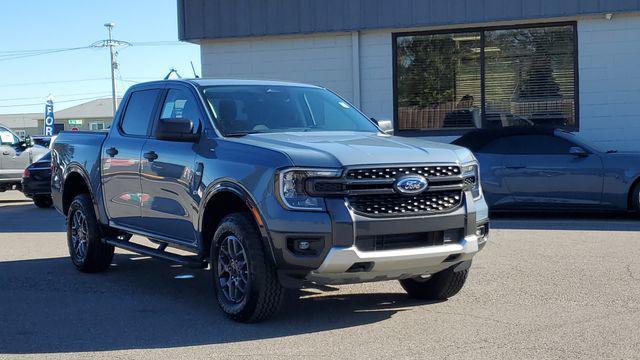
[(464, 286), (469, 269), (454, 271), (455, 266), (431, 275), (427, 279), (400, 280), (409, 296), (421, 300), (446, 300), (456, 295)]

